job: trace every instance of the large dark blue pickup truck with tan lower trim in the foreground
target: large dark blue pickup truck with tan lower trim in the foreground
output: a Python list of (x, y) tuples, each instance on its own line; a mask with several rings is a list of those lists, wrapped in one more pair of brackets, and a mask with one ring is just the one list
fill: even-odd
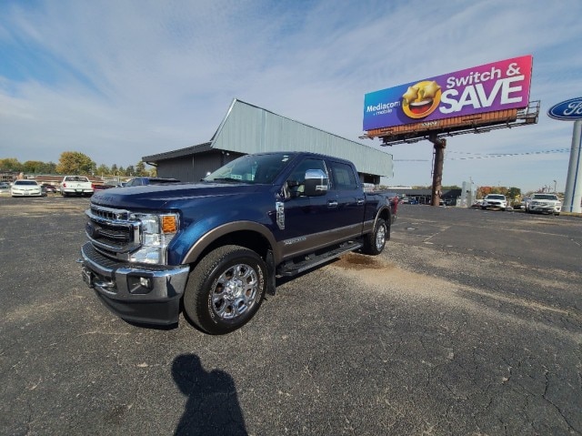
[(209, 334), (251, 319), (276, 277), (360, 250), (380, 254), (396, 197), (365, 193), (346, 160), (306, 152), (239, 157), (200, 182), (95, 193), (82, 275), (122, 319)]

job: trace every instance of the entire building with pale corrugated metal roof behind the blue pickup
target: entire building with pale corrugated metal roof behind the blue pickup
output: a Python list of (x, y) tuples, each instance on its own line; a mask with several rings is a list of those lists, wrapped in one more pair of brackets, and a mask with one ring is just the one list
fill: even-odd
[(354, 162), (362, 182), (375, 185), (380, 177), (394, 176), (390, 154), (237, 99), (209, 142), (142, 160), (157, 167), (158, 177), (197, 181), (236, 157), (265, 151), (311, 151), (346, 158)]

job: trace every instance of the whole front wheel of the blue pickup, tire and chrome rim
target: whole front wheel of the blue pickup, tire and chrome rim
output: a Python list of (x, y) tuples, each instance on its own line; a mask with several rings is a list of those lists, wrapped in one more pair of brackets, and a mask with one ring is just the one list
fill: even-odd
[(236, 245), (216, 248), (190, 272), (186, 315), (212, 335), (241, 328), (261, 306), (266, 274), (266, 263), (255, 251)]

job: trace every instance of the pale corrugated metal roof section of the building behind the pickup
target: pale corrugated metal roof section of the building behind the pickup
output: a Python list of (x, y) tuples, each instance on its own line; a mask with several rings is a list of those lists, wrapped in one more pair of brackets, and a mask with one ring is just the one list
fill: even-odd
[(394, 175), (392, 155), (234, 99), (211, 140), (212, 148), (239, 153), (311, 151), (351, 160), (358, 172)]

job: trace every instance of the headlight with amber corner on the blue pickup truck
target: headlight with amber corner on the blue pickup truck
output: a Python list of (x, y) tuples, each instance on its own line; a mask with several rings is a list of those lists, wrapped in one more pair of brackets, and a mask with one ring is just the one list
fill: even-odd
[(141, 248), (129, 257), (131, 262), (166, 263), (166, 248), (178, 231), (177, 214), (131, 214), (131, 219), (141, 221)]

